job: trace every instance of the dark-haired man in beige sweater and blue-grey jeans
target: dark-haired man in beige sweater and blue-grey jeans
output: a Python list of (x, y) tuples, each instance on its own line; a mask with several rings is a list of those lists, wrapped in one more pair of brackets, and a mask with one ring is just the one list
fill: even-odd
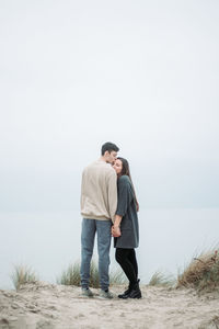
[(105, 143), (101, 149), (101, 158), (88, 166), (82, 173), (81, 287), (82, 295), (88, 297), (93, 296), (89, 288), (89, 280), (95, 232), (97, 234), (100, 296), (113, 297), (108, 291), (108, 266), (111, 227), (117, 207), (117, 175), (112, 163), (118, 150), (115, 144)]

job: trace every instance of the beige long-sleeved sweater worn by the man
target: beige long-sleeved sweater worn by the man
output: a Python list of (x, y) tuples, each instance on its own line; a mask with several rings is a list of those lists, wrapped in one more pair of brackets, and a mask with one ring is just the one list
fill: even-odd
[(82, 173), (81, 215), (83, 218), (114, 220), (116, 207), (116, 172), (110, 163), (97, 160)]

